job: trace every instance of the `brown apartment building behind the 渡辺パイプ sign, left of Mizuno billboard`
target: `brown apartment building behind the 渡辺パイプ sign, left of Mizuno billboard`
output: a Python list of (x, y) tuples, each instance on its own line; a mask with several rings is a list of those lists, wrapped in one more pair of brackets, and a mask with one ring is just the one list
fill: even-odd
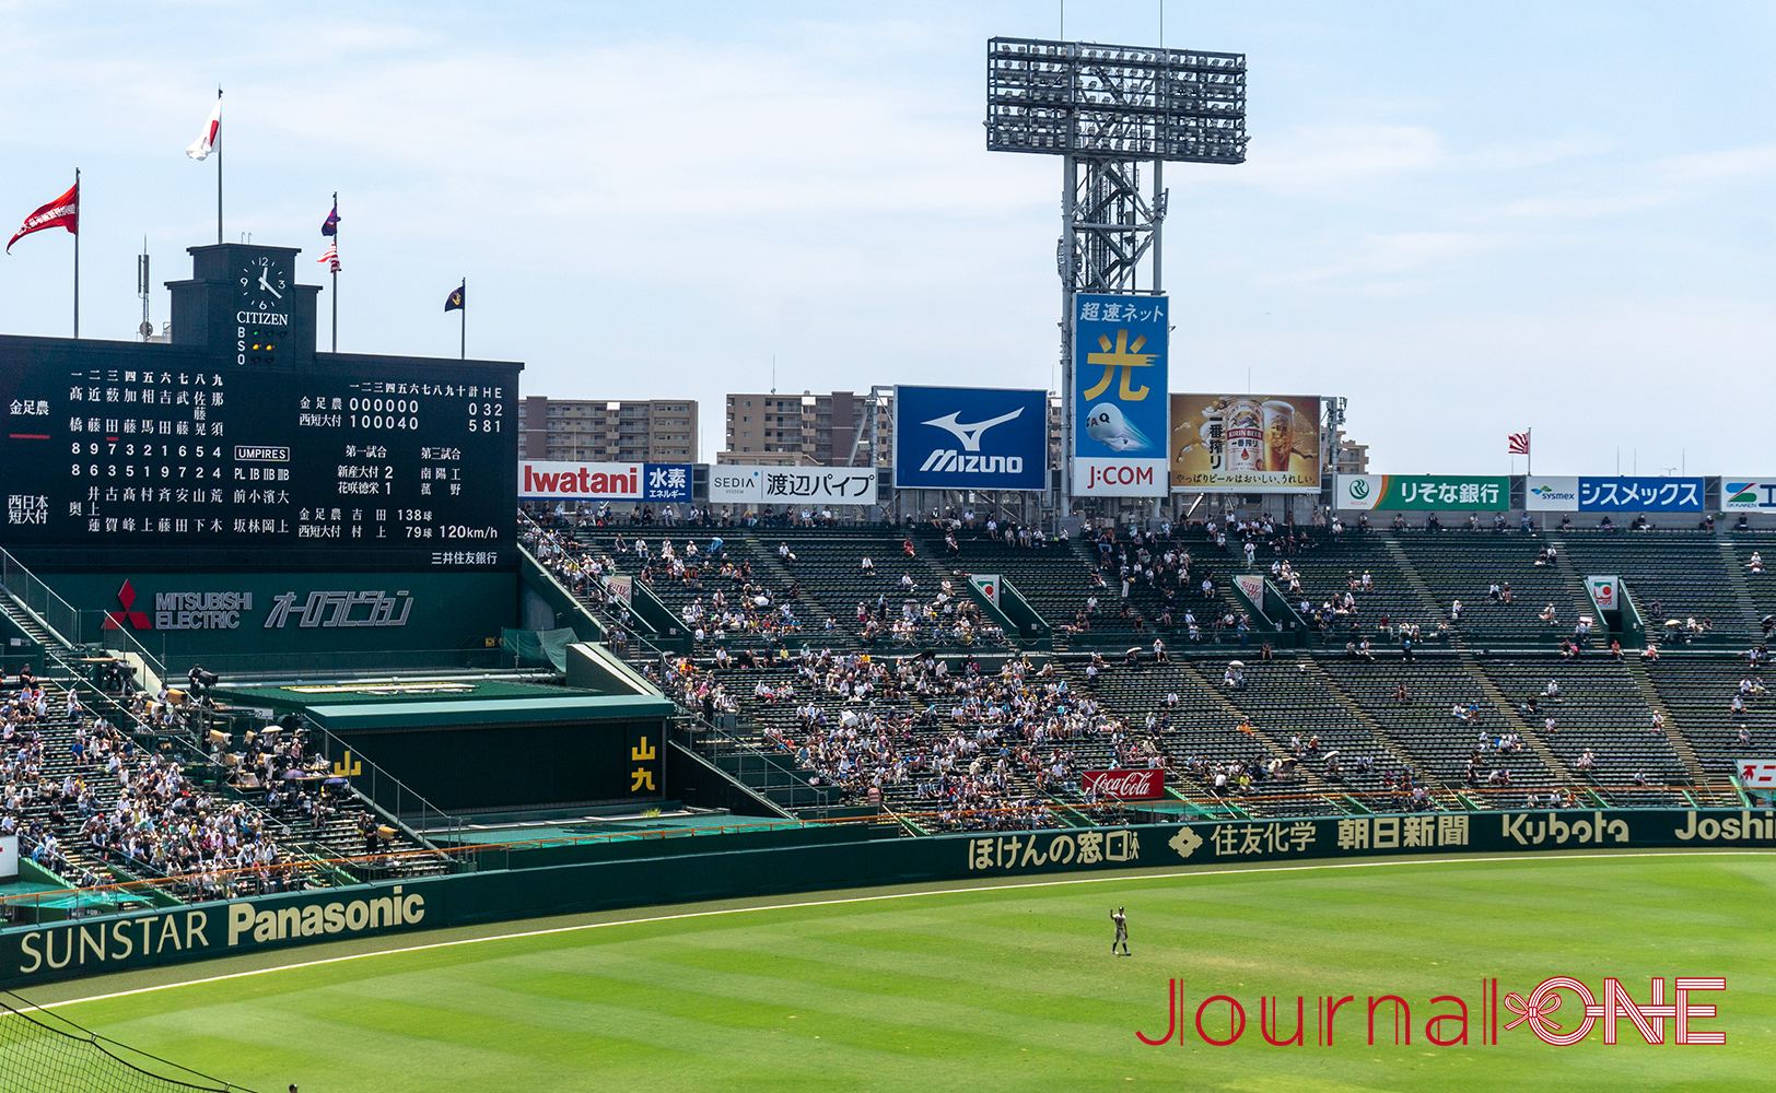
[[(892, 396), (881, 396), (892, 403)], [(778, 467), (877, 467), (893, 465), (892, 405), (877, 406), (876, 440), (881, 451), (870, 460), (868, 394), (730, 394), (728, 421), (718, 463), (765, 463)], [(861, 440), (863, 444), (856, 444)]]

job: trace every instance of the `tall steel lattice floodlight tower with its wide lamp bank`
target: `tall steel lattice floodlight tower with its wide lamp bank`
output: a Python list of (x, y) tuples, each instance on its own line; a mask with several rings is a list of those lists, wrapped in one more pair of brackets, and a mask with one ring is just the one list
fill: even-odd
[(1245, 53), (995, 37), (986, 128), (987, 151), (1062, 158), (1060, 511), (1071, 515), (1073, 296), (1163, 291), (1165, 163), (1245, 161)]

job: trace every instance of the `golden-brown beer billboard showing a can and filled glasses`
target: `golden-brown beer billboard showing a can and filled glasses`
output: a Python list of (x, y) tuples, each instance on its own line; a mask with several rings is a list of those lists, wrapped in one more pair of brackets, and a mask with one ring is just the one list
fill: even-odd
[(1174, 394), (1172, 490), (1318, 493), (1320, 396)]

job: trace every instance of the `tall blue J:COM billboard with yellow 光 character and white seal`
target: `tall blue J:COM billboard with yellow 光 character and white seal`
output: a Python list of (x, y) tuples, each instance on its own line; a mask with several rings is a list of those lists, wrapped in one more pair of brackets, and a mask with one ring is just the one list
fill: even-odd
[(1073, 298), (1073, 493), (1163, 497), (1169, 490), (1165, 296)]

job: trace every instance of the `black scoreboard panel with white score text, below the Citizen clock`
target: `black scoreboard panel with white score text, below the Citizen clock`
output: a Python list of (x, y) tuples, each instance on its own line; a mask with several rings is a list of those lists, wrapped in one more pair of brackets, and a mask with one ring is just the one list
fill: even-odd
[(0, 543), (46, 570), (510, 570), (517, 380), (0, 337)]

